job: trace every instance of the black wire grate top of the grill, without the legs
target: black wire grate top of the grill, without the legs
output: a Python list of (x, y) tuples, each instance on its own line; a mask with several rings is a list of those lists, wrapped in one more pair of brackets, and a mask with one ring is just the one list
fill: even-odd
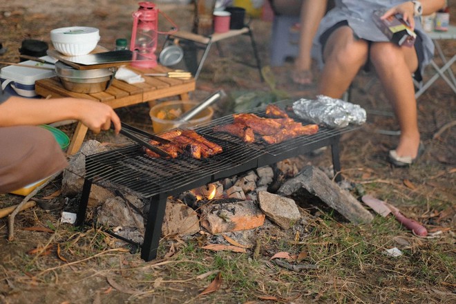
[[(264, 117), (265, 108), (256, 108), (249, 113)], [(294, 119), (303, 122), (296, 117)], [(247, 144), (233, 135), (212, 131), (213, 126), (228, 124), (232, 121), (233, 117), (229, 115), (194, 129), (208, 140), (222, 146), (223, 152), (211, 158), (195, 160), (185, 155), (180, 155), (175, 159), (150, 158), (142, 146), (133, 144), (121, 149), (87, 156), (86, 178), (95, 183), (108, 180), (139, 196), (150, 198), (158, 193), (178, 192), (184, 188), (189, 189), (189, 185), (194, 183), (205, 184), (312, 151), (312, 149), (332, 144), (341, 133), (354, 129), (352, 127), (343, 129), (321, 127), (319, 132), (314, 135), (302, 135), (279, 144), (267, 144), (260, 140)]]

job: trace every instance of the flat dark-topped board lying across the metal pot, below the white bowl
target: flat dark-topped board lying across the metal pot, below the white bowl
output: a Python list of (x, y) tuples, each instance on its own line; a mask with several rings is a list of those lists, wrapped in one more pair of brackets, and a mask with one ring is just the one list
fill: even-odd
[(57, 50), (48, 50), (48, 55), (68, 64), (77, 70), (93, 70), (95, 68), (111, 68), (113, 66), (124, 66), (133, 59), (131, 50), (106, 51), (105, 48), (95, 48), (90, 54), (82, 56), (66, 56)]

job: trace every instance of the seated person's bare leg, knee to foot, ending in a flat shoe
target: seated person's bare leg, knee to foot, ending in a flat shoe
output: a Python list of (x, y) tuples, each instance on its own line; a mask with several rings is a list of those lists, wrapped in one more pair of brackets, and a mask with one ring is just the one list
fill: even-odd
[(411, 76), (418, 65), (415, 49), (378, 42), (372, 44), (370, 57), (401, 129), (396, 153), (415, 158), (419, 146), (417, 101)]

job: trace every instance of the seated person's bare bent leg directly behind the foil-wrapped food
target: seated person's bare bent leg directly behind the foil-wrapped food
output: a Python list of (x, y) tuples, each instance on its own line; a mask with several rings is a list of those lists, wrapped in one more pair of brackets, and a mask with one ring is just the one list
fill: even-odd
[(343, 26), (327, 40), (323, 59), (319, 94), (340, 98), (368, 59), (368, 43), (355, 39), (352, 29)]

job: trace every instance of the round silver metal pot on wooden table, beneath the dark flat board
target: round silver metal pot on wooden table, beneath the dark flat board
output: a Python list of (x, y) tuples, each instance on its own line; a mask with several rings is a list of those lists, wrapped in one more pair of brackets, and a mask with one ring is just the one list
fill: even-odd
[(55, 63), (55, 73), (68, 91), (86, 94), (105, 91), (114, 77), (112, 68), (77, 70), (61, 61)]

